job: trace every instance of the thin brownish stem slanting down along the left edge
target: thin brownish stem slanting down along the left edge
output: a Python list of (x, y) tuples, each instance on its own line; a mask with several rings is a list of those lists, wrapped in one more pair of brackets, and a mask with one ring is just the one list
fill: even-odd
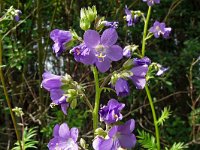
[(10, 115), (11, 115), (12, 122), (13, 122), (13, 125), (14, 125), (17, 140), (19, 142), (20, 150), (23, 150), (22, 145), (21, 145), (20, 136), (19, 136), (19, 133), (18, 133), (18, 130), (17, 130), (17, 123), (16, 123), (16, 120), (15, 120), (14, 113), (12, 111), (11, 102), (10, 102), (10, 99), (9, 99), (9, 96), (8, 96), (8, 92), (7, 92), (6, 84), (5, 84), (5, 79), (4, 79), (4, 76), (3, 76), (3, 71), (2, 71), (2, 68), (3, 68), (3, 65), (2, 65), (3, 64), (2, 63), (3, 50), (2, 49), (3, 49), (2, 48), (2, 41), (1, 41), (1, 36), (0, 36), (0, 78), (1, 78), (1, 83), (2, 83), (2, 86), (3, 86), (4, 95), (6, 97), (6, 102), (7, 102), (8, 107), (9, 107), (9, 111), (10, 111)]

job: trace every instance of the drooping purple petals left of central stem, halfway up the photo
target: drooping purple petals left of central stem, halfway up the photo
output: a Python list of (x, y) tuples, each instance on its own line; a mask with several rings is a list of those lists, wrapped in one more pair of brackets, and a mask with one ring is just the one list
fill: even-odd
[(61, 89), (62, 82), (61, 76), (51, 74), (50, 72), (45, 72), (42, 75), (42, 87), (50, 92), (51, 100), (53, 105), (60, 105), (64, 114), (67, 114), (67, 108), (69, 103), (66, 101), (67, 97), (64, 95), (64, 91)]

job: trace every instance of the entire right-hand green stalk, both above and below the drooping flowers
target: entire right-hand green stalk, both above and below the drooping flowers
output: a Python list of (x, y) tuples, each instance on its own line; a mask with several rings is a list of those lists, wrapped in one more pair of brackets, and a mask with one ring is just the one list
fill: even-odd
[[(146, 46), (146, 40), (147, 40), (147, 28), (148, 28), (150, 15), (151, 15), (151, 6), (149, 6), (147, 18), (145, 20), (145, 25), (144, 25), (143, 39), (142, 39), (142, 57), (145, 56), (145, 46)], [(152, 115), (153, 115), (157, 149), (160, 150), (160, 135), (159, 135), (159, 130), (158, 130), (157, 117), (156, 117), (155, 108), (154, 108), (154, 105), (153, 105), (151, 93), (150, 93), (150, 90), (149, 90), (147, 85), (145, 86), (145, 90), (146, 90), (146, 93), (147, 93), (147, 97), (149, 99), (149, 104), (151, 106), (151, 111), (152, 111)]]

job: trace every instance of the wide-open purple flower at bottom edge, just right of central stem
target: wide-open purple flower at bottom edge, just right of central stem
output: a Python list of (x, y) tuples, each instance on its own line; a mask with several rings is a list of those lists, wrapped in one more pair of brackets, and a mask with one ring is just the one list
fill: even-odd
[(93, 141), (95, 150), (117, 150), (118, 148), (132, 148), (136, 144), (136, 137), (132, 133), (135, 121), (130, 119), (124, 125), (113, 126), (108, 132), (108, 138), (97, 137)]

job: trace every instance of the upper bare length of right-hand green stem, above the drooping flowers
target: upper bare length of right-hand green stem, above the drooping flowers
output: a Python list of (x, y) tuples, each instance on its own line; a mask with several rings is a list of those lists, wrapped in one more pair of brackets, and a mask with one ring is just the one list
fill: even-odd
[(143, 57), (145, 55), (147, 28), (148, 28), (150, 15), (151, 15), (151, 6), (149, 6), (148, 13), (147, 13), (147, 18), (146, 18), (145, 23), (144, 23), (144, 31), (143, 31), (143, 38), (142, 38), (142, 56)]

